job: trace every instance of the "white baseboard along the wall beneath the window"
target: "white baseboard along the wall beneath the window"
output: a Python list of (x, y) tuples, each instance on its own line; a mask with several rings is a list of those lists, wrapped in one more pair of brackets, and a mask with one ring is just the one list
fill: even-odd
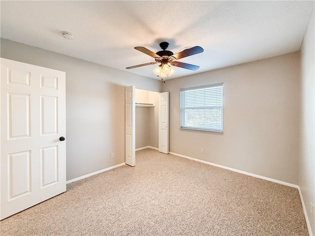
[(271, 182), (280, 183), (280, 184), (283, 184), (283, 185), (286, 185), (286, 186), (289, 186), (289, 187), (293, 187), (293, 188), (299, 188), (299, 185), (296, 185), (296, 184), (293, 184), (293, 183), (284, 182), (284, 181), (281, 181), (281, 180), (278, 180), (278, 179), (274, 179), (274, 178), (259, 176), (259, 175), (252, 174), (252, 173), (249, 173), (249, 172), (246, 172), (246, 171), (240, 171), (240, 170), (237, 170), (237, 169), (234, 169), (234, 168), (221, 166), (221, 165), (218, 165), (218, 164), (215, 164), (215, 163), (212, 163), (212, 162), (199, 160), (199, 159), (196, 159), (196, 158), (193, 158), (193, 157), (190, 157), (190, 156), (185, 156), (185, 155), (182, 155), (182, 154), (178, 154), (178, 153), (175, 153), (175, 152), (169, 152), (169, 153), (173, 154), (175, 156), (184, 157), (184, 158), (187, 158), (187, 159), (190, 159), (190, 160), (194, 160), (194, 161), (198, 161), (198, 162), (201, 162), (201, 163), (204, 163), (204, 164), (220, 167), (222, 169), (226, 169), (226, 170), (229, 170), (229, 171), (238, 172), (238, 173), (241, 173), (241, 174), (244, 174), (244, 175), (247, 175), (247, 176), (252, 176), (252, 177), (256, 177), (256, 178), (265, 179), (265, 180), (268, 180), (268, 181), (271, 181)]

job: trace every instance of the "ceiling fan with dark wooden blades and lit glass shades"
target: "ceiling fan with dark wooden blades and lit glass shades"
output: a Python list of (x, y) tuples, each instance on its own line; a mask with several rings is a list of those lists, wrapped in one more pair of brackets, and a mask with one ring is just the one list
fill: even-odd
[(133, 68), (137, 68), (144, 65), (153, 65), (153, 64), (161, 63), (157, 68), (153, 70), (153, 72), (157, 76), (161, 77), (162, 80), (166, 76), (170, 76), (175, 73), (175, 70), (172, 67), (170, 67), (168, 63), (170, 63), (173, 66), (182, 67), (189, 70), (199, 69), (198, 65), (192, 65), (192, 64), (180, 62), (180, 61), (177, 61), (177, 59), (186, 58), (194, 54), (202, 53), (203, 52), (202, 47), (195, 46), (189, 49), (185, 49), (182, 52), (173, 54), (171, 51), (166, 50), (168, 48), (168, 45), (169, 45), (168, 42), (161, 42), (159, 46), (162, 49), (162, 51), (158, 51), (157, 53), (154, 53), (144, 47), (135, 47), (134, 49), (153, 57), (156, 61), (129, 66), (129, 67), (126, 67), (126, 69), (133, 69)]

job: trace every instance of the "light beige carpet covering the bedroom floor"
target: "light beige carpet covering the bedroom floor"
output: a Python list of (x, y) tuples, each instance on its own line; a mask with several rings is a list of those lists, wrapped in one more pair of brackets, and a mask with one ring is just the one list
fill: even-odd
[(0, 222), (1, 236), (307, 236), (297, 189), (156, 150)]

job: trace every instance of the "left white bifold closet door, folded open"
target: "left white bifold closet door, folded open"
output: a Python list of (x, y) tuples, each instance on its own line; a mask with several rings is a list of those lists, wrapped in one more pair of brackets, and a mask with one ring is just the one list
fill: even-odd
[(135, 165), (135, 87), (125, 87), (125, 162)]

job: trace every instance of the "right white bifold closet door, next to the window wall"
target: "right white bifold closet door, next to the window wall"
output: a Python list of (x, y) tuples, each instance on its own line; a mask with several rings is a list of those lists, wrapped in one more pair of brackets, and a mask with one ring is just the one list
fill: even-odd
[(168, 92), (158, 95), (158, 151), (168, 154)]

